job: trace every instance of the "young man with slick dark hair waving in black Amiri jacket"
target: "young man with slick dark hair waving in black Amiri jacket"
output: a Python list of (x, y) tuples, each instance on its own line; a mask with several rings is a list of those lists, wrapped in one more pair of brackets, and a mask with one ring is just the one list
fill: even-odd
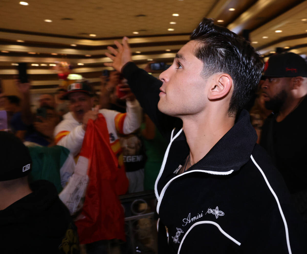
[(127, 40), (105, 65), (170, 138), (155, 184), (159, 253), (303, 253), (304, 224), (243, 109), (261, 56), (204, 18), (159, 81), (131, 62)]

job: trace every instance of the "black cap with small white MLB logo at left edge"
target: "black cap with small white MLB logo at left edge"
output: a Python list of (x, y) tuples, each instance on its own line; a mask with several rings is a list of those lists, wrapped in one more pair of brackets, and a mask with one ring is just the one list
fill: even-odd
[(0, 131), (0, 181), (27, 176), (32, 169), (29, 149), (12, 133)]

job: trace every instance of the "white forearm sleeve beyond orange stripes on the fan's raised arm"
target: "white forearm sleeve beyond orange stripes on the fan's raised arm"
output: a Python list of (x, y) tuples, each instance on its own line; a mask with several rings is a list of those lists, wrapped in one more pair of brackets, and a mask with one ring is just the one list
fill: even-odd
[(140, 128), (142, 122), (142, 108), (137, 100), (127, 101), (127, 115), (124, 120), (122, 131), (124, 134), (134, 132)]

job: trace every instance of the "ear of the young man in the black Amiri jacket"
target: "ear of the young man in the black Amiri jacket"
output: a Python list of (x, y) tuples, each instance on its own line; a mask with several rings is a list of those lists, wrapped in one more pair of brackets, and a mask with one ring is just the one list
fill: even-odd
[(208, 92), (209, 100), (216, 100), (224, 97), (230, 91), (232, 86), (232, 78), (230, 75), (223, 73), (215, 75)]

